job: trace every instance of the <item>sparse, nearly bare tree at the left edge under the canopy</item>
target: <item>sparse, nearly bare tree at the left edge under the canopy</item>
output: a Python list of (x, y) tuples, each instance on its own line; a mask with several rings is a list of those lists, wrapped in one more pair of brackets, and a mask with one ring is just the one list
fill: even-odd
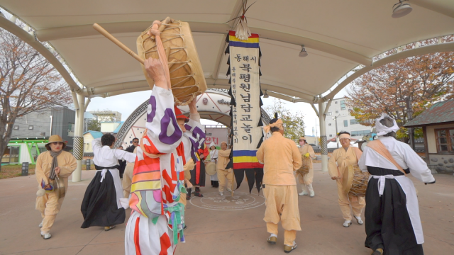
[(52, 64), (16, 35), (0, 28), (0, 162), (16, 118), (52, 106), (67, 106), (70, 100), (70, 89)]

